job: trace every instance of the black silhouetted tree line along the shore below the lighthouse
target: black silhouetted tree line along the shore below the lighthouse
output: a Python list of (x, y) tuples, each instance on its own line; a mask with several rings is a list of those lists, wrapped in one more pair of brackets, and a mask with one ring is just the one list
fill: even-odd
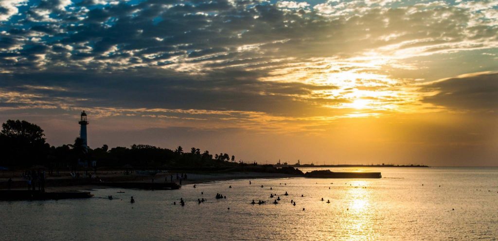
[[(60, 147), (46, 143), (43, 130), (32, 123), (8, 120), (2, 124), (0, 133), (1, 166), (31, 167), (43, 165), (48, 168), (76, 168), (78, 163), (97, 161), (98, 166), (110, 167), (221, 167), (238, 166), (235, 156), (226, 153), (201, 152), (191, 148), (184, 152), (182, 147), (175, 150), (150, 145), (132, 145), (130, 148), (107, 145), (100, 148), (86, 148), (83, 140), (76, 138), (74, 144)], [(244, 164), (245, 165), (245, 164)]]

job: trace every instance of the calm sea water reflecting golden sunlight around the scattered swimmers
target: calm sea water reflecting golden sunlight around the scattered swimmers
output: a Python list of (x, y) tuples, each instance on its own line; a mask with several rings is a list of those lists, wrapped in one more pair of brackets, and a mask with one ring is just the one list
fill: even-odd
[[(172, 191), (98, 189), (85, 200), (0, 202), (0, 240), (498, 239), (498, 168), (332, 170), (381, 171), (383, 178), (251, 179), (251, 185), (244, 179)], [(227, 199), (215, 199), (216, 193)], [(252, 199), (267, 203), (251, 205)]]

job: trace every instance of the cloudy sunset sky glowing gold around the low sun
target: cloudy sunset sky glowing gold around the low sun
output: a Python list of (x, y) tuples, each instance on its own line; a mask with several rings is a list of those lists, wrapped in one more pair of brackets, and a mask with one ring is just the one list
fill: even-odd
[(0, 121), (54, 146), (498, 165), (498, 1), (1, 0)]

